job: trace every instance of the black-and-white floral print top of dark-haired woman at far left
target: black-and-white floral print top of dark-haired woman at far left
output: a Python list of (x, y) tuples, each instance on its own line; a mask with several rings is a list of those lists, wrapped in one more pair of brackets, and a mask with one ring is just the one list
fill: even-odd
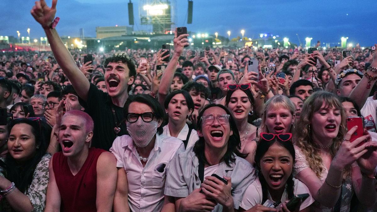
[[(35, 168), (33, 180), (24, 193), (29, 197), (30, 203), (34, 207), (33, 211), (44, 211), (44, 207), (46, 206), (46, 192), (49, 181), (48, 164), (50, 159), (51, 154), (43, 155)], [(2, 157), (0, 160), (4, 161), (5, 158)], [(5, 170), (2, 167), (0, 167), (0, 176), (5, 176)], [(6, 198), (0, 201), (0, 209), (2, 212), (13, 211)]]

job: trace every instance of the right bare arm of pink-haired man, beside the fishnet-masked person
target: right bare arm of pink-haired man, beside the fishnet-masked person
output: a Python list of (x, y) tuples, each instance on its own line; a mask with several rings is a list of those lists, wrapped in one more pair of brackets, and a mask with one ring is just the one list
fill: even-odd
[(103, 152), (97, 161), (97, 211), (112, 210), (117, 176), (114, 155)]

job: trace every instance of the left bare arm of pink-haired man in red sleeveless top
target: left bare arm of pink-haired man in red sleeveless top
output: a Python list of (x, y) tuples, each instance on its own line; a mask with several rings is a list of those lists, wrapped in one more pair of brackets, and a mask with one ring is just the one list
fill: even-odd
[(46, 208), (44, 211), (60, 211), (61, 197), (58, 185), (56, 184), (54, 169), (52, 168), (52, 158), (50, 160), (48, 170), (50, 180), (48, 181), (47, 186)]

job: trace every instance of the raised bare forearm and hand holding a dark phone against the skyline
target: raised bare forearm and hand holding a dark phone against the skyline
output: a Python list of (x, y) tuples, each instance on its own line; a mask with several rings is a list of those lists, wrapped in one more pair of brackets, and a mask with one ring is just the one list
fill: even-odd
[(167, 64), (167, 67), (162, 74), (160, 87), (158, 88), (158, 101), (161, 105), (164, 105), (166, 96), (169, 94), (170, 85), (172, 84), (174, 78), (174, 72), (177, 69), (178, 58), (183, 52), (185, 45), (190, 45), (189, 40), (185, 37), (188, 34), (182, 34), (177, 37), (177, 30), (174, 32), (174, 54)]

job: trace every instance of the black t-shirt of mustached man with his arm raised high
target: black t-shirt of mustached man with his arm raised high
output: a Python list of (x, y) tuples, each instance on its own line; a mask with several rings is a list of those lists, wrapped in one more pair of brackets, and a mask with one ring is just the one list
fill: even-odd
[[(79, 98), (79, 101), (81, 105), (85, 105), (85, 112), (94, 121), (92, 147), (109, 151), (116, 138), (114, 132), (115, 122), (118, 124), (121, 122), (118, 136), (128, 134), (126, 122), (124, 121), (123, 108), (114, 105), (110, 96), (97, 89), (94, 84), (90, 83), (87, 101), (85, 102), (81, 98)], [(112, 108), (114, 108), (116, 117), (114, 117)]]

